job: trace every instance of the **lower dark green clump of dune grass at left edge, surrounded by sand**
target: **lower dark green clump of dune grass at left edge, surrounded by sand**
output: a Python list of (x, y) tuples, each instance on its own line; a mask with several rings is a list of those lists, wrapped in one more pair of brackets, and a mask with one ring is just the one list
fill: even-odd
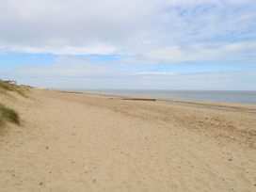
[(20, 116), (15, 110), (6, 107), (4, 104), (0, 104), (0, 126), (5, 125), (6, 122), (20, 125)]

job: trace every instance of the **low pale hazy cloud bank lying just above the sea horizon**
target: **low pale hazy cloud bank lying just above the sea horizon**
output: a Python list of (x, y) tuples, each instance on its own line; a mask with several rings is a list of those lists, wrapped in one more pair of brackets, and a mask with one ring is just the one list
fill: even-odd
[[(73, 65), (72, 65), (73, 66)], [(128, 76), (119, 72), (109, 72), (104, 66), (93, 69), (93, 66), (64, 65), (58, 71), (57, 66), (23, 69), (17, 72), (19, 83), (30, 81), (32, 86), (51, 88), (151, 88), (151, 89), (224, 89), (255, 90), (256, 72), (187, 72), (161, 73), (137, 72)], [(29, 71), (30, 70), (30, 71)], [(82, 72), (81, 72), (82, 70)], [(92, 71), (91, 71), (92, 70)], [(1, 73), (1, 72), (0, 72)], [(12, 75), (15, 75), (12, 73)], [(10, 75), (11, 77), (11, 75)]]

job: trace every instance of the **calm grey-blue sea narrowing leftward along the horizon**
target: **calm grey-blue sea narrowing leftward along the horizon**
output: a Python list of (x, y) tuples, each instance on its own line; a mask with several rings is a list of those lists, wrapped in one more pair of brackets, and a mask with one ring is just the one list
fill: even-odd
[[(80, 90), (81, 91), (81, 90)], [(182, 99), (200, 102), (256, 104), (256, 91), (236, 90), (124, 90), (102, 89), (82, 90), (84, 92), (115, 94), (160, 99)]]

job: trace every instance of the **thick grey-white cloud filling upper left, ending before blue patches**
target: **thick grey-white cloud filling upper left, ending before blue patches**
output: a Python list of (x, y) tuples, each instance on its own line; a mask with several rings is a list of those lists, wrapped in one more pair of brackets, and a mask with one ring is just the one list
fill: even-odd
[(2, 0), (0, 40), (32, 47), (115, 44), (152, 28), (148, 16), (154, 16), (154, 5), (151, 0)]

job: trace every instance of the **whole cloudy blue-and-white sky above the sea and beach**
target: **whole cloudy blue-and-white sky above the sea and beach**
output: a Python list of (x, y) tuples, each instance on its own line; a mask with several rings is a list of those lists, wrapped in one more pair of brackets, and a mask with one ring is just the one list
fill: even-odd
[(255, 0), (0, 0), (0, 78), (256, 90)]

